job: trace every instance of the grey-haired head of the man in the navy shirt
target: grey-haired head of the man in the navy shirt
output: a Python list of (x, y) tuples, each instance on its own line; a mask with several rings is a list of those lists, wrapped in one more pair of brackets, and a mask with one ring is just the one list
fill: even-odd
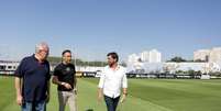
[(38, 57), (40, 60), (45, 60), (49, 54), (49, 47), (47, 43), (40, 43), (35, 46), (35, 55)]

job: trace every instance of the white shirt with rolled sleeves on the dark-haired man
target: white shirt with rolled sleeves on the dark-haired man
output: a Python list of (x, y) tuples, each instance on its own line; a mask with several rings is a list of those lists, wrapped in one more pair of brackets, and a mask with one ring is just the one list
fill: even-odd
[(121, 88), (128, 88), (126, 69), (120, 65), (115, 70), (104, 67), (98, 87), (103, 89), (103, 95), (117, 98), (121, 95)]

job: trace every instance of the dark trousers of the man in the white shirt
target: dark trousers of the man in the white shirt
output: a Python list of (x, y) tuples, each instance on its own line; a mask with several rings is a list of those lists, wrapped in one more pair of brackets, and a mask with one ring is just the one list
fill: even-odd
[(115, 111), (119, 99), (120, 99), (120, 96), (117, 98), (110, 98), (108, 96), (104, 96), (104, 101), (106, 101), (108, 111)]

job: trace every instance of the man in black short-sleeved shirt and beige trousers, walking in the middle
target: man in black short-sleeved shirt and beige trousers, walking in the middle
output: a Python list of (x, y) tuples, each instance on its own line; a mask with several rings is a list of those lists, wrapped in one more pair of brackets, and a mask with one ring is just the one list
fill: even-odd
[(71, 52), (66, 49), (63, 52), (62, 56), (63, 60), (55, 67), (53, 77), (53, 84), (58, 86), (59, 111), (65, 111), (66, 102), (68, 102), (70, 111), (77, 111), (77, 79), (75, 66), (70, 63)]

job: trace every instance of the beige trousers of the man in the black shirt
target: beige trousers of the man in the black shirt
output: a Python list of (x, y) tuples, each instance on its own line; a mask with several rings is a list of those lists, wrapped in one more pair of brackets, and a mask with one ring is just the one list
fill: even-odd
[(58, 91), (59, 111), (65, 111), (66, 103), (69, 104), (70, 111), (77, 111), (76, 99), (75, 91)]

